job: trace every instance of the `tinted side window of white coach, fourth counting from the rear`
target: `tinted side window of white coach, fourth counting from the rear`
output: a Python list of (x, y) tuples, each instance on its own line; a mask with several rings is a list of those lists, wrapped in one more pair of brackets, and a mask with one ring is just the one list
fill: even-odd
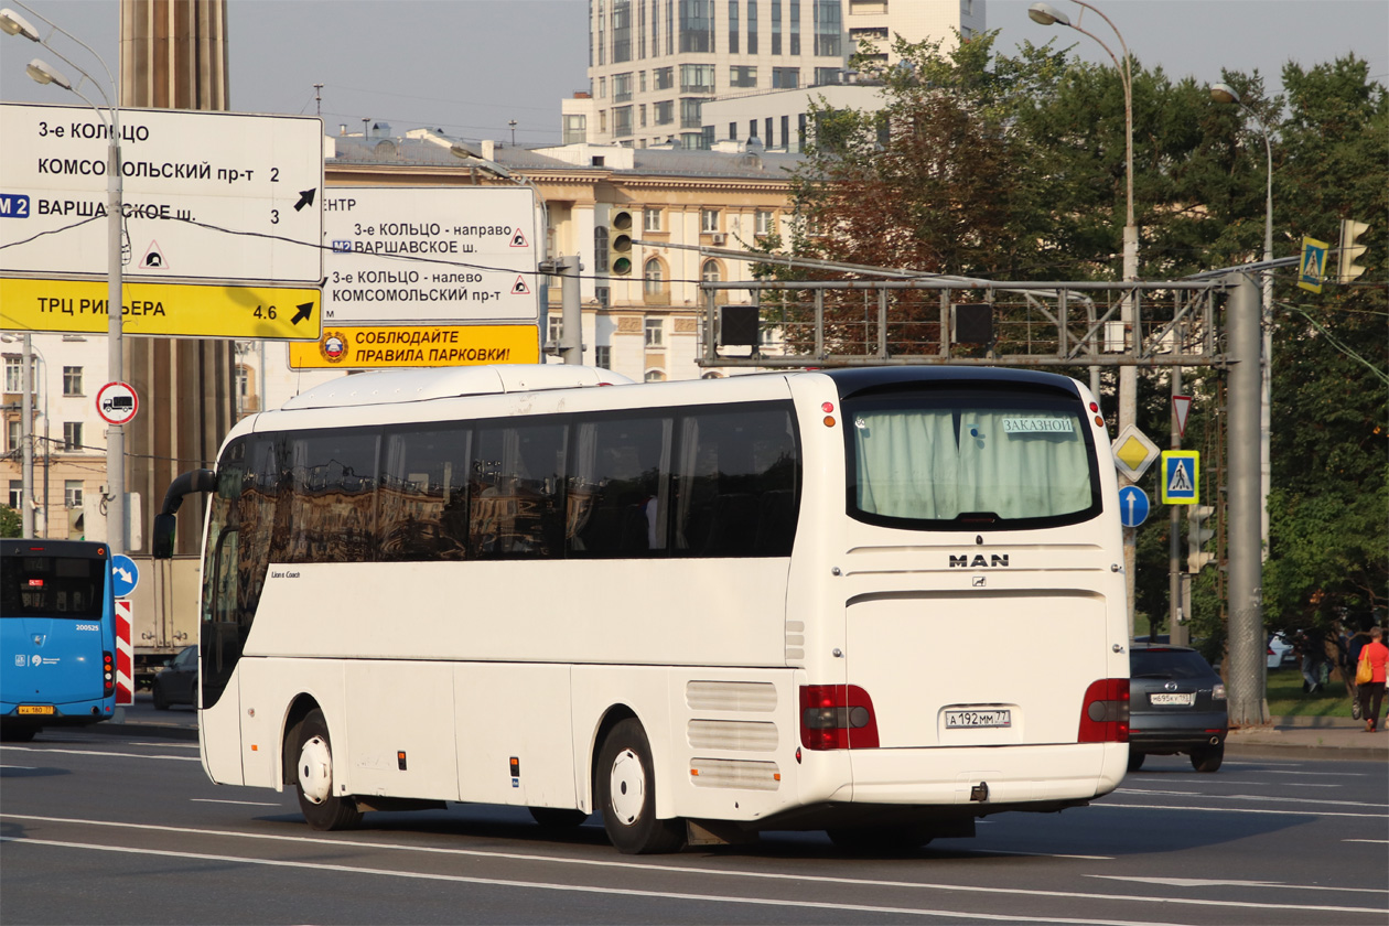
[(467, 558), (471, 439), (458, 425), (386, 433), (378, 503), (383, 561)]

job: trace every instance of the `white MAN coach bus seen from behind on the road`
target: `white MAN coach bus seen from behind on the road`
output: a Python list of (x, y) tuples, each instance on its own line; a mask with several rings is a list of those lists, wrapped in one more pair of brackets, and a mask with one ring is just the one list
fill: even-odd
[[(624, 852), (840, 845), (1114, 790), (1128, 632), (1099, 407), (1039, 372), (610, 385), (375, 372), (228, 436), (203, 765), (315, 829), (446, 801)], [(604, 387), (606, 386), (606, 387)]]

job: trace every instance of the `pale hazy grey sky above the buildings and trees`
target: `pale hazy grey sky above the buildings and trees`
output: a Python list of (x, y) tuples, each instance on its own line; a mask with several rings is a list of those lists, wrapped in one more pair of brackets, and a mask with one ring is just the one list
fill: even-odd
[[(117, 71), (118, 0), (22, 0), (74, 33)], [(893, 0), (893, 3), (956, 0)], [(1081, 7), (1050, 0), (1071, 15)], [(999, 46), (1056, 37), (1081, 57), (1108, 62), (1092, 39), (1028, 19), (1031, 0), (988, 0)], [(722, 0), (718, 0), (722, 7)], [(14, 7), (14, 0), (0, 0)], [(560, 100), (588, 89), (588, 0), (228, 0), (232, 110), (313, 115), (329, 135), (360, 132), (363, 119), (397, 133), (442, 129), (464, 139), (557, 144)], [(1389, 83), (1389, 3), (1385, 0), (1095, 0), (1146, 67), (1174, 81), (1220, 79), (1221, 69), (1264, 75), (1281, 89), (1289, 60), (1304, 68), (1354, 51)], [(42, 22), (28, 17), (35, 26)], [(1110, 40), (1088, 12), (1089, 32)], [(92, 74), (81, 47), (50, 43)], [(25, 76), (46, 50), (0, 33), (0, 100), (71, 104), (71, 94)], [(51, 57), (51, 56), (49, 56)], [(51, 60), (50, 64), (64, 69)], [(69, 74), (76, 79), (76, 74)], [(321, 83), (321, 101), (314, 85)], [(510, 122), (515, 121), (515, 126)], [(514, 136), (513, 136), (514, 132)]]

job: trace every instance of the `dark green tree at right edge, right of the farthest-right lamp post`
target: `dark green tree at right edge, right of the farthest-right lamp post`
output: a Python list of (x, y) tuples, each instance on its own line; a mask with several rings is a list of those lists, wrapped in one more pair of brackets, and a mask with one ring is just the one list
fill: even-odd
[[(1283, 69), (1275, 203), (1292, 242), (1368, 222), (1365, 275), (1279, 280), (1264, 607), (1275, 626), (1383, 618), (1389, 594), (1389, 97), (1365, 61)], [(1335, 260), (1331, 261), (1332, 267)], [(1285, 275), (1285, 276), (1290, 276)]]

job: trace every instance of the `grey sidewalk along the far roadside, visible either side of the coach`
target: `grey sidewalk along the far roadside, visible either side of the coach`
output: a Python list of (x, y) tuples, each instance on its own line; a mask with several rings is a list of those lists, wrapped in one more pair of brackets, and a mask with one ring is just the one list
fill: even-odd
[[(1386, 723), (1385, 726), (1389, 726)], [(111, 721), (86, 727), (114, 736), (144, 736), (150, 739), (197, 741), (197, 715), (178, 711), (131, 718), (121, 723)], [(1225, 755), (1258, 759), (1376, 759), (1389, 761), (1389, 732), (1365, 733), (1364, 721), (1349, 716), (1282, 716), (1268, 726), (1229, 732)]]

